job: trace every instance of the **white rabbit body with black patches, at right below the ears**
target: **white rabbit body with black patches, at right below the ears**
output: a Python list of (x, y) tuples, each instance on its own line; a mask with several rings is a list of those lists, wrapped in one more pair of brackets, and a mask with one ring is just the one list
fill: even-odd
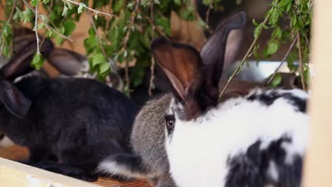
[(258, 89), (196, 120), (178, 120), (166, 142), (172, 176), (179, 186), (299, 186), (306, 97)]

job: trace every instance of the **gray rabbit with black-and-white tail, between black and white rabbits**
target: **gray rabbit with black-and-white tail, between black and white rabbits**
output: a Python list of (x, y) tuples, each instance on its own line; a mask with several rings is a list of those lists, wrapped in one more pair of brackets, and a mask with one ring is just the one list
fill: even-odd
[(133, 154), (114, 154), (99, 164), (99, 171), (125, 176), (128, 179), (145, 179), (158, 187), (176, 186), (169, 171), (165, 151), (164, 115), (172, 95), (155, 98), (140, 109), (131, 132)]

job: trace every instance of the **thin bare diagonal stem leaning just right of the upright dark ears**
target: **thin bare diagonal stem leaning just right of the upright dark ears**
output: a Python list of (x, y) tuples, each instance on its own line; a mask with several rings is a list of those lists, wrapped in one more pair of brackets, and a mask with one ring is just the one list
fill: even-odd
[[(269, 18), (270, 18), (270, 14), (268, 14), (266, 16), (265, 20), (262, 23), (260, 23), (260, 26), (265, 26), (265, 23), (267, 23), (267, 21), (269, 20)], [(236, 68), (236, 70), (233, 72), (233, 74), (231, 75), (231, 77), (228, 79), (226, 85), (223, 87), (223, 90), (219, 94), (218, 102), (221, 101), (221, 97), (225, 93), (225, 91), (228, 88), (229, 84), (231, 84), (231, 81), (234, 79), (234, 77), (236, 76), (236, 74), (238, 74), (240, 72), (240, 69), (243, 67), (243, 64), (245, 63), (245, 60), (247, 60), (248, 55), (251, 53), (251, 51), (255, 47), (256, 42), (258, 41), (258, 38), (260, 38), (260, 33), (256, 33), (255, 40), (253, 40), (253, 43), (250, 45), (248, 51), (245, 53), (245, 56), (243, 57), (243, 59), (240, 62), (240, 66), (238, 68)]]

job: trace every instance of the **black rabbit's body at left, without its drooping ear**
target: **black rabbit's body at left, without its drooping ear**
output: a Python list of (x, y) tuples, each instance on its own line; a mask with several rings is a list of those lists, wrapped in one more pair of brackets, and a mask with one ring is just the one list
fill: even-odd
[(14, 86), (32, 101), (17, 118), (0, 106), (0, 131), (28, 147), (28, 164), (94, 181), (101, 159), (129, 151), (137, 112), (121, 92), (92, 79), (26, 77)]

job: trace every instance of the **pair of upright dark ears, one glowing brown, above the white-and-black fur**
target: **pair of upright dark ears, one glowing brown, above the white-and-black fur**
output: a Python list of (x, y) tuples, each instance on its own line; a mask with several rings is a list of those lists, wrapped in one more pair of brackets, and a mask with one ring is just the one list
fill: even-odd
[[(214, 35), (198, 52), (190, 45), (157, 38), (151, 47), (153, 56), (172, 84), (175, 106), (182, 108), (179, 116), (185, 120), (197, 118), (218, 100), (218, 83), (223, 72), (226, 42), (231, 30), (245, 26), (244, 12), (221, 23)], [(170, 124), (171, 125), (171, 124)]]

